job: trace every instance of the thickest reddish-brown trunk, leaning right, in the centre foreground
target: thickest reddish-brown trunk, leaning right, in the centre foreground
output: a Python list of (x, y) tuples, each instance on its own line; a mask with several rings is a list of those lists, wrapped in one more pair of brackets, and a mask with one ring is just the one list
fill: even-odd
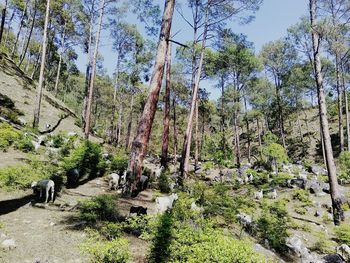
[(137, 135), (132, 143), (132, 151), (127, 170), (127, 183), (124, 188), (124, 193), (127, 195), (131, 194), (136, 189), (136, 184), (141, 178), (142, 162), (147, 151), (154, 115), (157, 110), (159, 91), (163, 79), (174, 6), (175, 0), (166, 0), (158, 41), (157, 56), (150, 82), (150, 91), (139, 121)]

